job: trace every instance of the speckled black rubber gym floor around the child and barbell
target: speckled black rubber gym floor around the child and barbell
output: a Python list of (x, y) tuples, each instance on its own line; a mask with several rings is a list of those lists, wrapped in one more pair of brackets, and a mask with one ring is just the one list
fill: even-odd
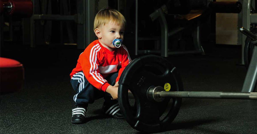
[[(185, 91), (240, 92), (247, 71), (240, 65), (240, 47), (205, 44), (206, 55), (167, 59), (178, 68)], [(71, 123), (75, 92), (69, 73), (83, 50), (72, 46), (4, 49), (2, 57), (23, 63), (25, 82), (19, 92), (0, 96), (0, 133), (141, 133), (125, 119), (105, 117), (103, 98), (89, 104), (86, 123)], [(166, 131), (160, 132), (164, 133), (256, 134), (256, 100), (182, 99), (178, 115)]]

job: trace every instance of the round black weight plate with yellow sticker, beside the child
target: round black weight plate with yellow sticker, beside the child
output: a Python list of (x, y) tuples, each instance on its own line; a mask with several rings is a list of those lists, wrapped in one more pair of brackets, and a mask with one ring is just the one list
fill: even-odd
[[(147, 98), (150, 86), (164, 87), (165, 83), (170, 84), (170, 91), (183, 91), (176, 67), (160, 56), (139, 57), (124, 69), (119, 80), (118, 100), (121, 112), (131, 127), (138, 131), (159, 132), (175, 119), (181, 98), (165, 98), (162, 102), (151, 102)], [(134, 107), (129, 105), (128, 90), (134, 95)], [(170, 102), (172, 104), (168, 108)]]

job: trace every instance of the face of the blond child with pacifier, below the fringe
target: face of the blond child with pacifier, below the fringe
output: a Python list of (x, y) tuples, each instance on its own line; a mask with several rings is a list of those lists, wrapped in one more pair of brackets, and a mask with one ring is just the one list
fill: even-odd
[(101, 26), (99, 29), (101, 30), (101, 37), (102, 37), (100, 40), (100, 43), (103, 46), (109, 47), (111, 50), (115, 48), (115, 46), (113, 45), (114, 39), (123, 40), (124, 27), (121, 25), (117, 25), (113, 22), (109, 22), (108, 24)]

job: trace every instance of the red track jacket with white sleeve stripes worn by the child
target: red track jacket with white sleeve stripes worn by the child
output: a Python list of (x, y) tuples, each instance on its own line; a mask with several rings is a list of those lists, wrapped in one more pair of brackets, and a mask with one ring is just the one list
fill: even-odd
[(128, 50), (123, 44), (120, 48), (110, 51), (103, 47), (99, 40), (95, 40), (79, 55), (77, 66), (70, 76), (72, 78), (75, 73), (83, 71), (90, 84), (105, 92), (110, 85), (105, 78), (119, 70), (116, 82), (119, 81), (122, 71), (130, 62)]

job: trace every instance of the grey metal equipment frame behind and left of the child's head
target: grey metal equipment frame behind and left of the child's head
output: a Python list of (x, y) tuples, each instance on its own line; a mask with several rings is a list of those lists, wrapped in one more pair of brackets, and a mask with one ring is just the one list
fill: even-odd
[[(85, 49), (88, 44), (95, 40), (93, 34), (93, 23), (95, 18), (95, 1), (76, 0), (77, 14), (75, 15), (38, 15), (33, 14), (30, 18), (30, 46), (36, 47), (35, 44), (35, 24), (34, 20), (59, 20), (75, 21), (77, 23), (77, 48)], [(35, 7), (33, 0), (33, 8)]]

